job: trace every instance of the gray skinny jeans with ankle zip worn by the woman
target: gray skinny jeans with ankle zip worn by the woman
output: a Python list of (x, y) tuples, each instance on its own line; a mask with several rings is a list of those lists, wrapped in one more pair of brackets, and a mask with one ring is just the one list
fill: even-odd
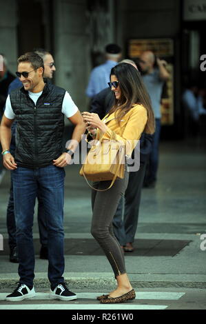
[[(107, 256), (114, 276), (125, 274), (125, 258), (123, 250), (114, 236), (112, 219), (116, 212), (121, 196), (125, 193), (129, 179), (129, 172), (125, 170), (124, 179), (116, 179), (114, 185), (105, 192), (92, 190), (92, 227), (91, 234), (99, 243)], [(105, 189), (110, 186), (111, 181), (93, 182), (96, 189)]]

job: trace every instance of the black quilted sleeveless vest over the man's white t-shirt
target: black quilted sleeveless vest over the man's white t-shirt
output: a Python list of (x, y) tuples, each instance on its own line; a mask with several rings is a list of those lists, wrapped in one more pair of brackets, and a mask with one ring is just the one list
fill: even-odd
[(43, 168), (51, 165), (63, 152), (64, 115), (61, 112), (65, 90), (52, 83), (45, 87), (37, 104), (23, 88), (10, 93), (17, 121), (17, 165), (24, 168)]

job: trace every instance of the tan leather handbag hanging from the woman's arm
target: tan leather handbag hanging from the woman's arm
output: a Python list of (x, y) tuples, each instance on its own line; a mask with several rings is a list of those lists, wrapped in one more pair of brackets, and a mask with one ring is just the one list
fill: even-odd
[(116, 141), (115, 132), (112, 132), (110, 140), (94, 141), (79, 174), (85, 177), (88, 185), (90, 185), (88, 180), (112, 181), (110, 187), (103, 190), (97, 190), (90, 185), (96, 191), (108, 190), (112, 187), (116, 178), (123, 179), (125, 175), (125, 148), (122, 143)]

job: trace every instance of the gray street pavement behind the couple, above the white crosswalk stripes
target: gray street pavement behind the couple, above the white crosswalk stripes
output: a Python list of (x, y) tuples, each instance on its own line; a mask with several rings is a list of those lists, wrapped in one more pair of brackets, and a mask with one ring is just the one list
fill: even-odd
[[(195, 141), (160, 145), (156, 188), (143, 188), (134, 247), (125, 253), (134, 288), (206, 288), (206, 152)], [(65, 178), (65, 281), (71, 290), (112, 290), (114, 274), (90, 234), (90, 188), (79, 176), (80, 165), (69, 165)], [(6, 207), (10, 172), (0, 185), (0, 292), (12, 290), (18, 264), (9, 262)], [(34, 217), (35, 289), (50, 286), (48, 261), (39, 259), (37, 208)], [(205, 241), (204, 241), (205, 240)]]

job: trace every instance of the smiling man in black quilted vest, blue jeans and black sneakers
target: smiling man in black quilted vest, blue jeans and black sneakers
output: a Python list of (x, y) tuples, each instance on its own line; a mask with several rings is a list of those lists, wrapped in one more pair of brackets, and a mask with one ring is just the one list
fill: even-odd
[[(6, 297), (22, 301), (35, 295), (32, 224), (37, 192), (48, 228), (48, 279), (50, 298), (76, 299), (63, 279), (63, 186), (65, 170), (85, 132), (81, 113), (64, 89), (43, 79), (43, 59), (28, 52), (18, 59), (17, 77), (23, 84), (6, 101), (1, 121), (3, 164), (12, 170), (14, 213), (19, 252), (19, 285)], [(64, 115), (74, 124), (68, 152), (62, 153)], [(17, 147), (10, 154), (12, 122), (17, 121)]]

